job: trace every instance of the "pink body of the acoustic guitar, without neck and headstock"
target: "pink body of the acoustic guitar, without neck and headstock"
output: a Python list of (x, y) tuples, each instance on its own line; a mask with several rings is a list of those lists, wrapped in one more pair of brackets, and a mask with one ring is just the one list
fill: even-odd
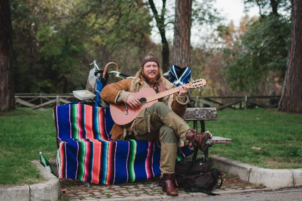
[(146, 107), (150, 107), (154, 103), (158, 102), (157, 99), (150, 102), (146, 102), (146, 98), (148, 96), (156, 94), (156, 92), (152, 88), (145, 88), (137, 93), (132, 93), (132, 92), (127, 92), (127, 93), (138, 98), (142, 105), (138, 108), (131, 108), (129, 105), (126, 105), (126, 103), (121, 103), (121, 104), (110, 103), (109, 108), (110, 108), (111, 117), (113, 121), (119, 125), (130, 123), (136, 118), (136, 116), (141, 110), (143, 110)]

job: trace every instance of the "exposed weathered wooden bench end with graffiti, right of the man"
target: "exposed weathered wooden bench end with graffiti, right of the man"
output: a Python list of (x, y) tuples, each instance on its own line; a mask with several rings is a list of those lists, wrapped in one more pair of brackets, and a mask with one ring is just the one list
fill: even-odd
[[(216, 108), (187, 108), (187, 111), (183, 117), (186, 122), (193, 122), (193, 128), (203, 133), (205, 130), (204, 121), (217, 120), (217, 109)], [(190, 125), (190, 124), (189, 124)], [(209, 147), (214, 144), (225, 144), (231, 143), (231, 139), (216, 136), (213, 134), (212, 139), (208, 140), (208, 147), (204, 151), (204, 162), (209, 162)], [(193, 150), (192, 161), (196, 161), (198, 149)]]

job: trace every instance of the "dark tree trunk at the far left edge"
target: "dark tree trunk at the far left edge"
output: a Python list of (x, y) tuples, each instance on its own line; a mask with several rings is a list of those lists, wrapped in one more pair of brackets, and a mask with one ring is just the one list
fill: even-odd
[(0, 30), (0, 111), (7, 111), (16, 108), (9, 0), (0, 1)]

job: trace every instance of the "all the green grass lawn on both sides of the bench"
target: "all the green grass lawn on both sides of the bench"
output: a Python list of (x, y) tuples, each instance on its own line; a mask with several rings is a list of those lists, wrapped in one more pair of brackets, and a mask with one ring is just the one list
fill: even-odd
[[(217, 111), (218, 120), (206, 121), (214, 136), (231, 138), (215, 144), (215, 154), (262, 168), (302, 168), (302, 114), (276, 109)], [(43, 180), (32, 160), (56, 159), (56, 129), (52, 108), (17, 108), (0, 112), (0, 186), (33, 184)], [(261, 148), (260, 150), (251, 147)]]

